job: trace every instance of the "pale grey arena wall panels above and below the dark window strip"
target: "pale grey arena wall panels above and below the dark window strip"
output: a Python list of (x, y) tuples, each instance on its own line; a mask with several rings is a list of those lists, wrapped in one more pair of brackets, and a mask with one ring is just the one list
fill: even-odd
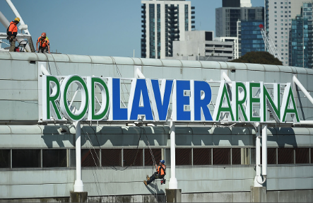
[[(225, 71), (232, 81), (287, 83), (291, 82), (295, 75), (310, 93), (313, 92), (313, 71), (290, 66), (0, 52), (1, 149), (74, 148), (75, 129), (73, 127), (58, 124), (51, 127), (38, 122), (40, 120), (38, 103), (40, 83), (38, 81), (40, 81), (41, 75), (38, 62), (46, 62), (47, 70), (51, 71), (51, 74), (64, 76), (79, 74), (81, 76), (133, 78), (137, 66), (141, 68), (146, 78), (153, 79), (219, 81), (221, 73)], [(217, 96), (217, 91), (218, 83), (212, 85), (213, 100)], [(312, 104), (307, 102), (307, 98), (302, 93), (299, 92), (296, 96), (298, 97), (296, 102), (299, 107), (300, 119), (312, 119)], [(136, 146), (137, 144), (138, 129), (136, 128), (121, 126), (108, 128), (101, 125), (94, 128), (95, 132), (102, 134), (101, 147)], [(87, 129), (87, 124), (85, 130), (94, 133), (92, 129)], [(179, 130), (182, 131), (179, 132)], [(168, 127), (147, 128), (147, 132), (150, 133), (148, 135), (149, 142), (153, 143), (155, 147), (169, 148)], [(293, 129), (291, 132), (283, 129), (268, 129), (268, 133), (268, 146), (312, 147), (312, 129)], [(196, 129), (191, 131), (191, 128), (179, 129), (177, 127), (176, 140), (179, 147), (254, 147), (254, 135), (253, 130), (244, 130), (244, 128), (230, 130), (207, 127), (199, 129), (197, 132)], [(94, 143), (95, 136), (91, 136), (90, 140)], [(83, 142), (82, 146), (90, 146), (90, 140)], [(139, 146), (147, 146), (147, 143), (140, 141)], [(101, 196), (110, 199), (108, 201), (116, 201), (121, 195), (121, 198), (125, 197), (128, 200), (131, 198), (131, 201), (141, 198), (151, 198), (149, 201), (153, 201), (151, 195), (160, 195), (158, 198), (162, 200), (170, 178), (170, 170), (167, 171), (167, 183), (160, 185), (160, 182), (156, 181), (151, 185), (152, 187), (150, 185), (146, 187), (142, 182), (146, 175), (152, 173), (150, 167), (132, 167), (127, 170), (84, 168), (83, 182), (85, 190), (88, 191), (88, 198), (96, 199)], [(299, 190), (300, 193), (292, 193), (294, 197), (297, 197), (297, 199), (294, 198), (296, 202), (303, 200), (297, 196), (301, 192), (305, 193), (305, 201), (312, 202), (312, 174), (312, 164), (268, 166), (268, 193), (278, 192), (273, 193), (274, 195), (268, 199), (273, 199), (273, 202), (276, 200), (287, 201), (288, 199), (283, 199), (285, 194), (281, 193), (283, 194), (281, 195), (279, 192)], [(182, 188), (182, 197), (186, 197), (190, 202), (201, 202), (201, 199), (205, 199), (203, 202), (209, 202), (211, 198), (214, 200), (213, 202), (217, 202), (218, 198), (221, 198), (222, 202), (247, 202), (247, 199), (250, 198), (248, 193), (254, 184), (255, 174), (254, 165), (249, 165), (179, 166), (176, 169), (176, 175), (178, 185)], [(0, 199), (51, 198), (49, 201), (52, 199), (65, 201), (69, 197), (70, 191), (73, 190), (74, 181), (74, 168), (1, 169)], [(189, 194), (192, 195), (187, 196)], [(61, 200), (56, 200), (59, 197), (62, 197)]]

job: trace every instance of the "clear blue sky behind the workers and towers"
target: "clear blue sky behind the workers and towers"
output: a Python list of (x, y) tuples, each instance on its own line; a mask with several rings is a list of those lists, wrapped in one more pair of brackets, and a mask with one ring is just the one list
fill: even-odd
[[(52, 52), (112, 57), (141, 57), (141, 0), (11, 0), (35, 42), (47, 33)], [(215, 31), (215, 8), (222, 0), (190, 0), (196, 30)], [(252, 0), (264, 6), (264, 0)], [(12, 21), (13, 11), (0, 0), (0, 11)], [(6, 28), (0, 24), (0, 33)], [(5, 46), (3, 46), (5, 47)], [(134, 51), (135, 50), (135, 51)]]

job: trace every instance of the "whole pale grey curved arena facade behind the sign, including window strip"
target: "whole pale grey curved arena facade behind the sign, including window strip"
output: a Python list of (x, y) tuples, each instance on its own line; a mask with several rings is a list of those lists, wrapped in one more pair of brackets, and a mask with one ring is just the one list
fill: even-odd
[[(138, 78), (137, 69), (141, 69), (146, 79)], [(77, 202), (70, 197), (80, 174), (77, 172), (78, 161), (81, 162), (83, 192), (88, 192), (86, 202), (170, 202), (167, 200), (170, 196), (168, 190), (180, 191), (182, 202), (208, 202), (208, 199), (211, 202), (312, 202), (313, 105), (299, 88), (293, 86), (296, 76), (312, 94), (312, 69), (230, 62), (0, 52), (0, 71), (1, 202)], [(249, 84), (253, 95), (244, 93), (244, 98), (251, 98), (253, 110), (250, 112), (254, 112), (254, 118), (262, 112), (259, 105), (261, 84), (271, 94), (268, 99), (273, 93), (280, 95), (279, 99), (283, 101), (285, 85), (291, 83), (294, 96), (291, 98), (295, 99), (300, 122), (293, 122), (293, 117), (288, 115), (287, 122), (277, 127), (278, 123), (269, 117), (267, 130), (264, 130), (252, 122), (232, 123), (227, 117), (220, 118), (223, 122), (175, 122), (174, 127), (167, 122), (88, 121), (83, 118), (78, 127), (77, 122), (70, 120), (43, 119), (43, 92), (49, 90), (44, 88), (43, 79), (49, 75), (55, 78), (52, 84), (73, 75), (82, 77), (81, 84), (85, 83), (85, 76), (121, 79), (117, 94), (120, 95), (118, 103), (122, 111), (131, 105), (129, 91), (135, 79), (166, 79), (184, 83), (181, 90), (186, 91), (176, 91), (177, 94), (172, 95), (183, 95), (182, 104), (187, 104), (187, 98), (190, 101), (184, 105), (187, 108), (193, 100), (188, 91), (191, 86), (189, 88), (185, 82), (190, 85), (197, 81), (210, 83), (211, 90), (204, 91), (204, 96), (199, 91), (199, 100), (204, 97), (204, 101), (210, 103), (210, 110), (219, 106), (216, 101), (220, 83), (239, 85), (238, 93), (240, 90), (247, 93), (249, 88), (245, 86)], [(273, 83), (279, 83), (280, 88), (275, 88)], [(76, 85), (73, 82), (67, 86), (66, 95), (69, 95), (69, 101), (73, 101), (71, 106), (80, 111), (82, 96), (86, 92), (78, 91), (76, 94)], [(159, 95), (162, 86), (160, 84)], [(60, 88), (63, 87), (62, 84)], [(175, 89), (179, 87), (175, 85)], [(225, 84), (224, 87), (225, 100), (232, 93), (232, 98), (237, 99), (242, 108), (242, 97), (236, 98), (237, 93), (232, 91), (235, 86), (226, 88)], [(94, 93), (100, 103), (105, 99), (101, 96), (102, 91), (97, 85)], [(141, 93), (138, 95), (141, 97)], [(206, 100), (208, 95), (211, 95), (211, 101)], [(169, 113), (173, 112), (174, 103), (175, 100), (170, 99)], [(101, 108), (95, 105), (95, 112)], [(280, 112), (283, 110), (286, 108), (280, 108)], [(179, 111), (191, 113), (184, 108)], [(173, 129), (175, 134), (172, 134)], [(261, 167), (260, 156), (256, 156), (260, 153), (260, 139), (262, 146), (267, 144), (267, 156), (262, 156), (267, 157), (262, 167), (264, 163), (267, 167), (262, 172), (258, 170)], [(78, 146), (81, 146), (81, 159), (77, 157)], [(155, 171), (153, 157), (155, 161), (165, 160), (166, 182), (161, 184), (160, 180), (155, 180), (146, 186), (143, 180)], [(255, 180), (260, 174), (267, 175), (262, 184)], [(176, 187), (170, 184), (171, 180), (177, 180)]]

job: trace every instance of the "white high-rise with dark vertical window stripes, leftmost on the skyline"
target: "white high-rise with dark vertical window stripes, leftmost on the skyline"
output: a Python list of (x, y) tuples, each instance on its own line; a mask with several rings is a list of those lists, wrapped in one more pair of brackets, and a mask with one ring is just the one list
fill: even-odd
[(172, 57), (173, 41), (185, 37), (194, 26), (194, 6), (191, 1), (141, 1), (142, 58)]

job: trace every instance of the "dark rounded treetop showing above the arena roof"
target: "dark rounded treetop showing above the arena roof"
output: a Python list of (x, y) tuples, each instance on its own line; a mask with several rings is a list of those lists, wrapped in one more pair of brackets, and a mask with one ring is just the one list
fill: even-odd
[(239, 59), (234, 59), (230, 62), (250, 63), (250, 64), (271, 64), (283, 65), (280, 60), (268, 52), (247, 52)]

